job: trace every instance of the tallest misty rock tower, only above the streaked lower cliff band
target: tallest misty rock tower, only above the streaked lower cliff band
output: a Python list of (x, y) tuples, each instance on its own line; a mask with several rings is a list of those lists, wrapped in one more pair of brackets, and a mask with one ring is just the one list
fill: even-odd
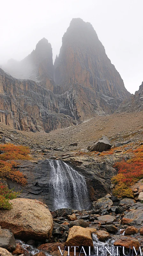
[(130, 95), (94, 28), (79, 18), (72, 19), (64, 34), (54, 66), (55, 83), (61, 84), (64, 91), (79, 83), (95, 94), (99, 92), (119, 101)]

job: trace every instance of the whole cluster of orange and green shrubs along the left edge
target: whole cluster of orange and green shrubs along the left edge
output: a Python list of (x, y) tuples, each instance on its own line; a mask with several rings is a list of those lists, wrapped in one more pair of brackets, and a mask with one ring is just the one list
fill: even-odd
[[(0, 145), (0, 150), (4, 151), (0, 154), (0, 178), (3, 180), (10, 179), (16, 181), (22, 186), (25, 186), (27, 179), (23, 173), (16, 170), (17, 162), (14, 160), (30, 160), (30, 150), (28, 147), (15, 146), (13, 144)], [(11, 209), (10, 199), (14, 199), (19, 195), (19, 192), (14, 192), (6, 185), (0, 182), (0, 209)]]

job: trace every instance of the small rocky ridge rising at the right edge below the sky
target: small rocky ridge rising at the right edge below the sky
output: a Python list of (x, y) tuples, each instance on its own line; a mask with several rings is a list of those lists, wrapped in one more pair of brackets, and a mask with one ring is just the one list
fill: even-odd
[(123, 100), (116, 112), (139, 112), (143, 111), (143, 82), (139, 86), (139, 90), (126, 100)]

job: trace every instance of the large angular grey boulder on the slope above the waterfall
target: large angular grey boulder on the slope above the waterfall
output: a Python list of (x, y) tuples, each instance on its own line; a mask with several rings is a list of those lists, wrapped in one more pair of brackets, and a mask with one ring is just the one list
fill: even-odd
[(108, 150), (111, 148), (110, 141), (106, 136), (102, 136), (101, 139), (95, 142), (95, 144), (89, 149), (89, 151), (99, 151), (102, 152), (104, 150)]

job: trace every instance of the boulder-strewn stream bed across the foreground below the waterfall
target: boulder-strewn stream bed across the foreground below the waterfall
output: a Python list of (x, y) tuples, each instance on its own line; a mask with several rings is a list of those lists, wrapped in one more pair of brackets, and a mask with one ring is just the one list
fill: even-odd
[[(107, 194), (94, 202), (91, 210), (63, 208), (54, 212), (37, 200), (13, 199), (10, 211), (0, 211), (0, 254), (59, 256), (60, 246), (66, 256), (67, 246), (79, 246), (79, 255), (81, 246), (94, 250), (95, 244), (101, 241), (106, 245), (108, 240), (114, 246), (138, 250), (143, 244), (143, 204), (124, 198), (114, 205), (111, 199)], [(71, 247), (70, 255), (74, 255)]]

